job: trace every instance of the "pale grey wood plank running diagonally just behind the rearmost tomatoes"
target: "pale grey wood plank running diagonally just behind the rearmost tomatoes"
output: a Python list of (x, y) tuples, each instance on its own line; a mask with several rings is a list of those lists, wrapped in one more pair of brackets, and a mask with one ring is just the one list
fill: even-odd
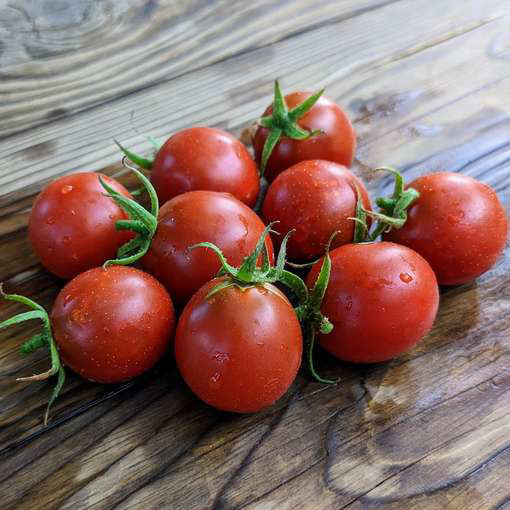
[[(445, 10), (448, 16), (443, 16)], [(133, 131), (132, 111), (141, 133), (163, 138), (169, 131), (193, 124), (239, 131), (260, 115), (275, 76), (284, 76), (288, 88), (326, 85), (332, 97), (341, 98), (340, 87), (345, 85), (343, 90), (349, 90), (363, 70), (469, 32), (503, 14), (508, 14), (504, 0), (483, 5), (476, 0), (406, 0), (9, 137), (0, 142), (0, 151), (6, 154), (0, 162), (0, 206), (33, 193), (56, 175), (118, 162), (114, 137), (134, 149), (148, 151), (149, 144)], [(389, 28), (388, 20), (392, 19), (399, 20), (399, 30)], [(495, 66), (500, 62), (493, 60)], [(345, 106), (351, 111), (349, 104)]]

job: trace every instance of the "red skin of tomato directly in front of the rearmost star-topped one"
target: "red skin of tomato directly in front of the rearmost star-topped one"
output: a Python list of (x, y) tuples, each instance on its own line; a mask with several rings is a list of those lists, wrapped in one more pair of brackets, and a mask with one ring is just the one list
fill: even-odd
[(341, 165), (323, 160), (301, 161), (283, 171), (269, 186), (262, 207), (264, 221), (279, 221), (281, 235), (274, 236), (276, 246), (292, 229), (287, 244), (290, 260), (304, 262), (324, 254), (335, 231), (332, 247), (351, 243), (356, 216), (356, 185), (365, 209), (370, 198), (365, 185)]

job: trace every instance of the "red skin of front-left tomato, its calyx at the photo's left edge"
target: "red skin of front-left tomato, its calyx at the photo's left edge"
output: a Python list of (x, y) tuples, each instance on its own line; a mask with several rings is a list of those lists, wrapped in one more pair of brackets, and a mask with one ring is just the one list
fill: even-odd
[(78, 275), (60, 291), (50, 318), (63, 362), (101, 383), (127, 381), (151, 368), (175, 326), (164, 287), (126, 266)]

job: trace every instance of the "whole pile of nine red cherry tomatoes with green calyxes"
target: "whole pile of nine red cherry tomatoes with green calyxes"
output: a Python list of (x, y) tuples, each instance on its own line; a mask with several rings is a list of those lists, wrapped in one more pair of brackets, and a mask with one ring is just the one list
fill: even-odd
[[(31, 310), (0, 327), (42, 321), (22, 351), (48, 348), (51, 368), (21, 379), (58, 376), (50, 404), (63, 364), (118, 383), (173, 349), (202, 400), (258, 411), (289, 388), (303, 352), (311, 373), (331, 382), (314, 368), (316, 339), (338, 359), (360, 363), (409, 349), (432, 327), (438, 284), (478, 277), (506, 243), (497, 195), (461, 174), (428, 174), (406, 186), (386, 169), (394, 192), (372, 209), (348, 170), (354, 129), (322, 91), (283, 97), (275, 84), (273, 104), (252, 131), (255, 159), (214, 128), (151, 141), (152, 158), (120, 147), (140, 190), (75, 173), (33, 204), (33, 249), (70, 281), (50, 315), (4, 293)], [(134, 198), (142, 192), (150, 210)]]

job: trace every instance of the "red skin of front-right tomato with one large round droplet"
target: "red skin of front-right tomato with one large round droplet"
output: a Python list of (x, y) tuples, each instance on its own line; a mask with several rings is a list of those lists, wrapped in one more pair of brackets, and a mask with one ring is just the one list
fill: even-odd
[[(346, 244), (330, 253), (331, 278), (321, 311), (333, 331), (318, 341), (344, 361), (375, 363), (398, 356), (432, 327), (439, 290), (431, 267), (405, 246)], [(311, 288), (322, 261), (307, 278)]]

